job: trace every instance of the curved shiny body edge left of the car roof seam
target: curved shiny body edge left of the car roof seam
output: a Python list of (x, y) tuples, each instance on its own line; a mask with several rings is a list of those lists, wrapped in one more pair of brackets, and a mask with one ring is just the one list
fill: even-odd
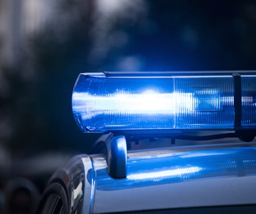
[[(48, 187), (56, 183), (64, 187), (68, 201), (68, 213), (91, 213), (93, 180), (86, 179), (86, 174), (91, 169), (90, 157), (83, 154), (71, 158), (66, 165), (52, 175)], [(93, 178), (92, 175), (91, 177)]]

